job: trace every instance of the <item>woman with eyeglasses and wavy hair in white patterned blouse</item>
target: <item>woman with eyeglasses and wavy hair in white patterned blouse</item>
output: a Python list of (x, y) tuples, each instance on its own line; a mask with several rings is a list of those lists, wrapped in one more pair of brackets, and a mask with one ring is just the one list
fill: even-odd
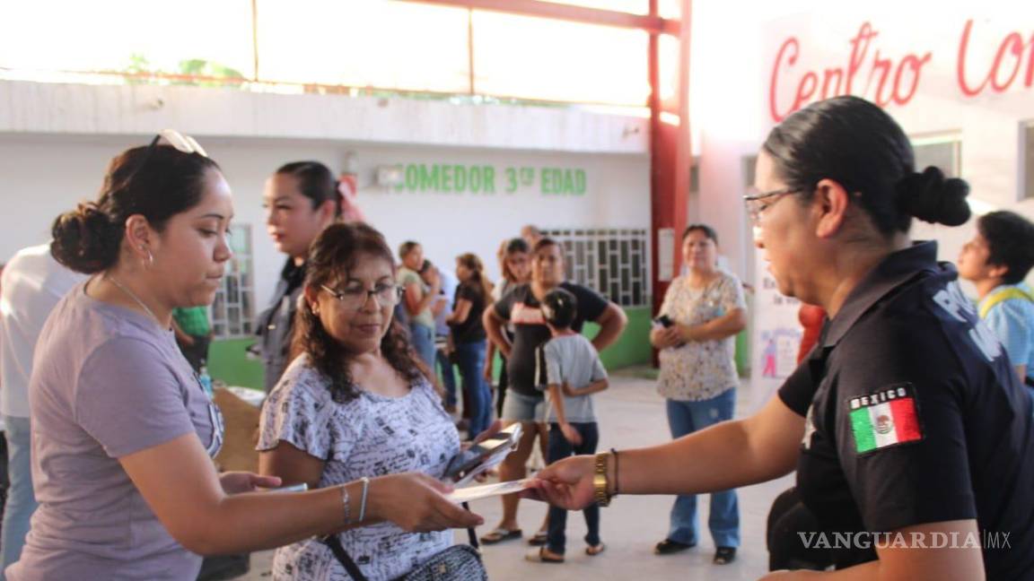
[[(401, 297), (395, 271), (384, 237), (366, 224), (334, 224), (316, 237), (297, 357), (263, 406), (263, 473), (311, 488), (401, 471), (444, 476), (459, 452), (459, 434), (428, 368), (392, 318)], [(449, 548), (452, 537), (383, 523), (344, 531), (337, 541), (368, 579), (387, 580)], [(278, 549), (273, 558), (274, 579), (344, 574), (318, 539)]]

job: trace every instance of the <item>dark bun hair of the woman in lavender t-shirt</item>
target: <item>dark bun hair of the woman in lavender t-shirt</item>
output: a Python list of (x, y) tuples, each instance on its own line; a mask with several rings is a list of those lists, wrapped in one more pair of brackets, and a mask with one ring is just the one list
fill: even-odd
[(205, 174), (219, 165), (166, 145), (134, 147), (112, 159), (96, 202), (84, 202), (51, 226), (51, 253), (69, 269), (93, 274), (114, 267), (129, 216), (157, 232), (201, 203)]

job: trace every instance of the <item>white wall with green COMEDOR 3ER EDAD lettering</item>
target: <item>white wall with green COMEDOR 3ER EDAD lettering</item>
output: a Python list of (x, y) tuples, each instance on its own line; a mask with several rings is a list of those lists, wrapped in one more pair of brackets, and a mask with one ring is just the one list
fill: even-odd
[[(160, 87), (151, 89), (184, 102), (171, 108), (166, 100), (164, 112), (155, 114), (142, 108), (143, 89), (0, 82), (0, 262), (45, 241), (54, 217), (96, 196), (113, 156), (166, 126), (197, 136), (234, 188), (235, 221), (252, 226), (258, 305), (268, 300), (283, 263), (266, 236), (263, 184), (287, 161), (315, 159), (338, 172), (353, 153), (363, 210), (393, 247), (420, 241), (431, 261), (449, 268), (456, 255), (473, 251), (493, 277), (498, 243), (517, 236), (524, 223), (649, 227), (645, 130), (626, 130), (640, 127), (640, 119), (574, 109), (394, 100), (387, 105), (394, 113), (382, 115), (383, 108), (368, 99)], [(254, 115), (258, 109), (268, 115)], [(378, 115), (376, 123), (353, 123)], [(332, 123), (335, 117), (341, 124)], [(407, 145), (392, 143), (405, 136), (412, 139)], [(439, 145), (429, 145), (435, 140)], [(493, 165), (499, 174), (510, 165), (577, 167), (586, 172), (587, 191), (544, 196), (522, 188), (489, 196), (376, 186), (376, 167), (396, 163)], [(497, 187), (503, 180), (496, 176)]]

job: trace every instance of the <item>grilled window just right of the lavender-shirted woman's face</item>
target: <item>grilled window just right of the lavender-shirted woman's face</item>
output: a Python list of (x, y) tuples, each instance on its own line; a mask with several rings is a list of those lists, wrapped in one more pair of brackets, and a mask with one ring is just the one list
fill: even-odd
[(212, 303), (212, 332), (217, 339), (248, 337), (254, 329), (254, 272), (251, 262), (251, 226), (230, 228), (234, 257)]

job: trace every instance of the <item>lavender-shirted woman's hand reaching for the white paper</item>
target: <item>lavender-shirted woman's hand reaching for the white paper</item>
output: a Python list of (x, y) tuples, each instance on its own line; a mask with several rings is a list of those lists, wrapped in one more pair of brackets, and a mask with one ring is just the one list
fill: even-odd
[(485, 522), (445, 497), (453, 488), (427, 475), (404, 472), (370, 481), (367, 513), (407, 532), (468, 528)]

